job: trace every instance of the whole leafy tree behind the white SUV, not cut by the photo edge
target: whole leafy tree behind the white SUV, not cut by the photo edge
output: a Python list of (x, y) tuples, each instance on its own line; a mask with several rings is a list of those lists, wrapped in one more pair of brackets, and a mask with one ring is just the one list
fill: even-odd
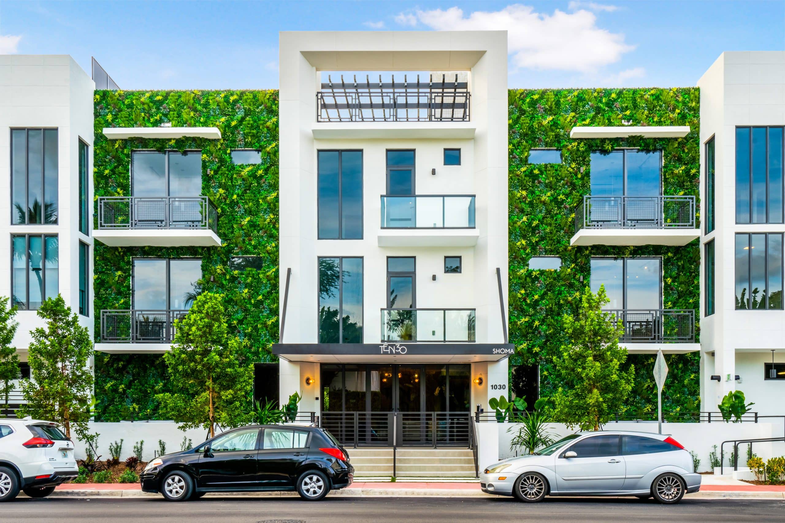
[(38, 308), (46, 327), (31, 331), (31, 380), (22, 383), (26, 404), (19, 416), (33, 416), (60, 423), (71, 438), (87, 433), (93, 392), (93, 341), (89, 329), (79, 325), (79, 315), (67, 307), (63, 296), (49, 298)]

